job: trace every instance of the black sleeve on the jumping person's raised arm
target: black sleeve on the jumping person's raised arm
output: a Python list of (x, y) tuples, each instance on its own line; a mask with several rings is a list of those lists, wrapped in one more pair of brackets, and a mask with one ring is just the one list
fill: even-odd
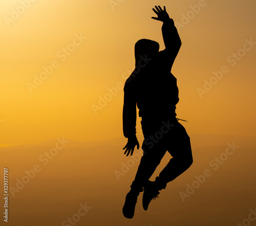
[(170, 71), (181, 47), (180, 36), (173, 19), (163, 22), (162, 34), (165, 45), (165, 50), (161, 51), (164, 57), (163, 63), (167, 63), (168, 70)]

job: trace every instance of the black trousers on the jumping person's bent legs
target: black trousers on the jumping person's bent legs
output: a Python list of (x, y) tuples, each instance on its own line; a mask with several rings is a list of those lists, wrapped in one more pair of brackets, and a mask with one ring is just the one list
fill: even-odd
[(168, 151), (172, 159), (156, 178), (158, 190), (164, 189), (168, 182), (186, 171), (193, 163), (190, 138), (185, 128), (176, 119), (172, 123), (163, 121), (161, 125), (146, 131), (142, 126), (142, 131), (144, 134), (143, 156), (131, 188), (143, 191), (145, 183)]

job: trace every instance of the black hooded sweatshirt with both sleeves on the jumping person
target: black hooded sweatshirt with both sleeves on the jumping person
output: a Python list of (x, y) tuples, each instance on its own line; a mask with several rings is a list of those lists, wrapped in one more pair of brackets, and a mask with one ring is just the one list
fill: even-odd
[(124, 84), (123, 134), (136, 138), (136, 105), (142, 118), (142, 131), (154, 132), (164, 120), (174, 120), (179, 102), (177, 79), (170, 70), (181, 47), (173, 19), (163, 22), (165, 49), (159, 44), (141, 39), (135, 44), (135, 70)]

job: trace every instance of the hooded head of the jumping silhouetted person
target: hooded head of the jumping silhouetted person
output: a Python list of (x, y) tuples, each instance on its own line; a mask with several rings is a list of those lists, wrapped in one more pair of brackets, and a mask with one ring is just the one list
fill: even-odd
[(135, 43), (135, 62), (138, 64), (141, 57), (154, 58), (159, 51), (159, 43), (150, 39), (140, 39)]

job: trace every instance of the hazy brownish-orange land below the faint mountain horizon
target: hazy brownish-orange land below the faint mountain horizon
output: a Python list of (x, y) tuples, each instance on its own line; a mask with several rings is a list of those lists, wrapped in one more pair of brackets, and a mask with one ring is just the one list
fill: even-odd
[[(54, 152), (51, 154), (54, 146), (48, 144), (20, 149), (0, 148), (1, 165), (10, 171), (10, 225), (62, 225), (64, 220), (77, 213), (80, 205), (87, 204), (92, 208), (77, 225), (100, 226), (111, 219), (112, 223), (106, 225), (226, 226), (242, 222), (250, 209), (256, 208), (256, 182), (251, 179), (256, 173), (256, 140), (253, 138), (227, 140), (223, 137), (216, 140), (215, 146), (206, 139), (203, 147), (200, 140), (191, 140), (194, 164), (170, 182), (147, 211), (142, 209), (140, 195), (135, 216), (130, 221), (123, 217), (121, 209), (139, 164), (141, 148), (140, 151), (135, 150), (133, 156), (126, 157), (121, 139), (118, 143), (114, 139), (109, 144), (98, 142), (97, 145), (78, 147), (71, 142), (56, 155)], [(223, 164), (218, 164), (215, 157), (223, 155), (228, 144), (236, 150), (222, 160)], [(152, 179), (169, 158), (167, 153)], [(40, 171), (30, 178), (29, 183), (23, 183), (23, 188), (20, 187), (22, 185), (17, 183), (22, 183), (28, 175), (26, 172), (31, 173), (35, 165)], [(205, 177), (204, 182), (201, 178), (203, 183), (194, 192), (192, 190), (189, 197), (182, 196), (180, 192), (187, 192), (187, 184), (198, 186), (193, 184), (196, 176), (203, 175), (205, 170), (210, 172), (210, 176)], [(24, 205), (26, 208), (21, 209)]]

